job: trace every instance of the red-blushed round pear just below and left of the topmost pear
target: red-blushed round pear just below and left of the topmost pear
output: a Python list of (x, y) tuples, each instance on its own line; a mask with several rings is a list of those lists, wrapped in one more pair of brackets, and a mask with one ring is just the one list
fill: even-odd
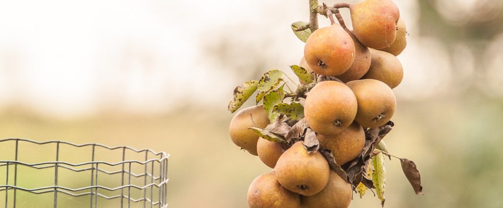
[(316, 74), (341, 75), (355, 60), (355, 43), (341, 27), (333, 24), (314, 31), (304, 46), (304, 58)]

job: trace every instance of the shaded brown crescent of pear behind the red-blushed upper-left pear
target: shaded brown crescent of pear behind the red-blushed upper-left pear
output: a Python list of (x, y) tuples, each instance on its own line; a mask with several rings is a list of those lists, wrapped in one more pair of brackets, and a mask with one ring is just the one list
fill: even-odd
[(369, 70), (371, 56), (369, 49), (364, 46), (352, 33), (348, 33), (355, 43), (355, 61), (344, 74), (337, 76), (343, 82), (349, 82), (362, 78)]

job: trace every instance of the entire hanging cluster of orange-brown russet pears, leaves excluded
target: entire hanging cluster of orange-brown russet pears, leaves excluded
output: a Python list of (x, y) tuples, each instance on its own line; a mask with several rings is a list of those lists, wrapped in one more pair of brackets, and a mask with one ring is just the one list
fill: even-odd
[[(339, 165), (361, 155), (365, 129), (392, 118), (392, 89), (403, 77), (395, 56), (406, 46), (405, 25), (391, 0), (365, 0), (349, 9), (353, 31), (339, 24), (314, 31), (299, 64), (313, 79), (333, 78), (318, 80), (303, 107), (320, 149), (331, 150)], [(331, 170), (319, 151), (308, 151), (303, 141), (285, 148), (249, 129), (269, 123), (263, 105), (242, 109), (230, 122), (232, 141), (273, 168), (249, 186), (249, 207), (348, 207), (352, 184)]]

